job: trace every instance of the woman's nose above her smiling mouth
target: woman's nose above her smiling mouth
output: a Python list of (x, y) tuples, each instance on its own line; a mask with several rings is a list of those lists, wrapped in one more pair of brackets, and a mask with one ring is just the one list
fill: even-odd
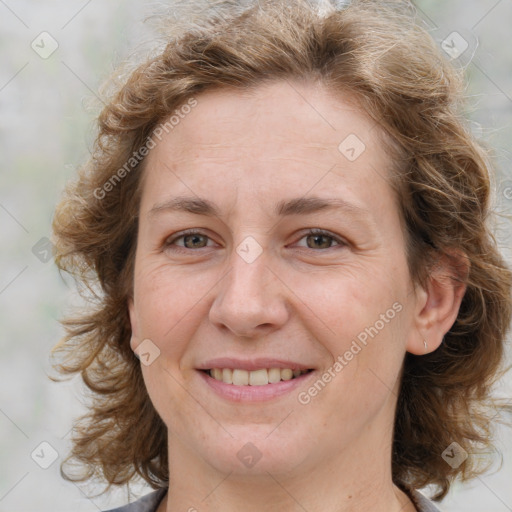
[(268, 266), (265, 252), (248, 263), (236, 252), (210, 308), (210, 321), (237, 337), (256, 338), (286, 324), (286, 286)]

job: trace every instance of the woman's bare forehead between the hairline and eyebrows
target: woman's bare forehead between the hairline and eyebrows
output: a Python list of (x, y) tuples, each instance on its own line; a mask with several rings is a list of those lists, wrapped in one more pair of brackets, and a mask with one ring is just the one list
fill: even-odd
[(382, 134), (352, 97), (280, 81), (195, 100), (149, 153), (143, 203), (148, 195), (165, 199), (169, 188), (203, 196), (236, 188), (247, 198), (270, 189), (294, 188), (294, 196), (364, 189), (367, 201), (390, 193), (382, 190), (390, 166)]

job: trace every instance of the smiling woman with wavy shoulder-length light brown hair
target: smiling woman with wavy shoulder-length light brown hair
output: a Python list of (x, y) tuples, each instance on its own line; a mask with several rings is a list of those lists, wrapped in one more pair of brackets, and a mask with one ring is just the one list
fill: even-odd
[(490, 445), (511, 273), (462, 81), (403, 3), (224, 2), (136, 68), (54, 217), (59, 368), (119, 511), (435, 511)]

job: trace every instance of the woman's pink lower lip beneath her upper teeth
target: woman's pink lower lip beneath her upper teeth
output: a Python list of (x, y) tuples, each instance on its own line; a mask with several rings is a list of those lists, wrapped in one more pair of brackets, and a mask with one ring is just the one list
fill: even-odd
[(263, 402), (265, 400), (272, 400), (296, 390), (315, 373), (311, 371), (294, 379), (281, 380), (274, 384), (265, 384), (264, 386), (236, 386), (235, 384), (226, 384), (216, 380), (204, 371), (198, 370), (198, 372), (215, 393), (233, 402)]

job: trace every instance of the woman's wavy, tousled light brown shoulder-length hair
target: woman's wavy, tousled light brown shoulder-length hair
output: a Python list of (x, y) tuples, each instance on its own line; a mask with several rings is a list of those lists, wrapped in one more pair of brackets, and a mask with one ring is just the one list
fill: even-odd
[[(405, 1), (224, 1), (188, 26), (166, 20), (165, 45), (114, 83), (92, 155), (54, 215), (56, 264), (85, 286), (89, 301), (86, 310), (62, 321), (65, 335), (52, 351), (59, 372), (79, 373), (89, 395), (62, 476), (98, 478), (107, 490), (138, 477), (153, 488), (168, 486), (167, 428), (129, 345), (141, 148), (203, 91), (279, 80), (315, 81), (334, 96), (357, 99), (394, 155), (390, 183), (412, 281), (425, 284), (440, 258), (448, 258), (452, 278), (466, 285), (441, 346), (405, 356), (394, 483), (405, 490), (430, 484), (441, 499), (456, 477), (488, 469), (474, 454), (493, 448), (493, 418), (504, 407), (492, 388), (504, 371), (512, 274), (489, 224), (493, 169), (462, 114), (462, 71)], [(456, 268), (454, 253), (464, 255), (468, 272)], [(458, 467), (442, 457), (453, 441), (470, 454)], [(68, 463), (82, 473), (68, 473)]]

